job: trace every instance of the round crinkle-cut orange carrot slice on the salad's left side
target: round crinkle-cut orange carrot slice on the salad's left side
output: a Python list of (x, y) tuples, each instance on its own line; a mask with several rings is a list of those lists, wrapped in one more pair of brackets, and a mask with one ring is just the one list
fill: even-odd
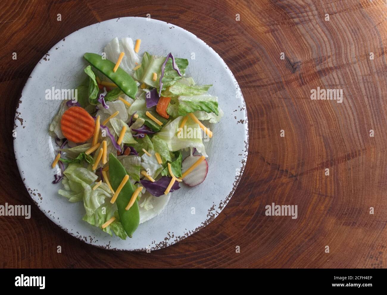
[(70, 107), (62, 115), (60, 128), (63, 135), (75, 143), (86, 142), (94, 133), (92, 116), (82, 107)]

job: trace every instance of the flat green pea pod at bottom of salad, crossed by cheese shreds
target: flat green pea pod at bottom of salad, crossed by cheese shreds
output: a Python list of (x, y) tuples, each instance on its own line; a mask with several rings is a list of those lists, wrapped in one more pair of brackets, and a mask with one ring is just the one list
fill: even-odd
[[(127, 175), (125, 168), (113, 155), (109, 154), (109, 175), (110, 175), (110, 184), (111, 187), (116, 190), (120, 185), (123, 177)], [(118, 208), (118, 214), (120, 215), (120, 221), (122, 223), (125, 232), (131, 238), (135, 230), (140, 224), (140, 212), (139, 212), (139, 203), (137, 200), (134, 201), (132, 207), (129, 210), (125, 210), (125, 207), (128, 205), (132, 195), (134, 193), (134, 188), (130, 181), (128, 181), (118, 194), (116, 204)]]

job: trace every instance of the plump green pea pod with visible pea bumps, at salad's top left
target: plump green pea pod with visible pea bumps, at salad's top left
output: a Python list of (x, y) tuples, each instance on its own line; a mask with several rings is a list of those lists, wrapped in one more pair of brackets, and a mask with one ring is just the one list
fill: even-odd
[(106, 77), (113, 81), (114, 84), (122, 90), (123, 93), (129, 97), (135, 98), (137, 93), (137, 84), (133, 78), (125, 72), (122, 68), (118, 67), (116, 72), (113, 72), (115, 63), (110, 60), (104, 60), (101, 55), (96, 53), (85, 53), (85, 60), (87, 60), (94, 68), (103, 73)]

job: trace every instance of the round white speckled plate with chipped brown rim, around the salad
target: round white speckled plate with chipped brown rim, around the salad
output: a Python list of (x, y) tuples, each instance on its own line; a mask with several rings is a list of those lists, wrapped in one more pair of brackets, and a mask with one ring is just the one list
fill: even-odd
[[(142, 223), (132, 239), (121, 240), (82, 221), (83, 203), (70, 203), (52, 184), (56, 169), (55, 143), (48, 125), (60, 101), (45, 99), (45, 90), (74, 89), (86, 65), (85, 52), (101, 53), (114, 37), (141, 39), (139, 56), (187, 58), (187, 76), (197, 84), (213, 84), (209, 93), (219, 99), (223, 119), (210, 126), (214, 133), (206, 146), (209, 172), (199, 186), (182, 188), (157, 217)], [(195, 59), (191, 56), (195, 55)], [(194, 34), (159, 20), (124, 17), (84, 27), (57, 43), (39, 61), (22, 91), (15, 115), (15, 157), (24, 184), (36, 205), (69, 234), (98, 247), (145, 251), (170, 246), (205, 227), (230, 200), (247, 160), (248, 125), (238, 83), (220, 56)], [(55, 149), (54, 149), (55, 148)], [(192, 214), (195, 208), (195, 214)]]

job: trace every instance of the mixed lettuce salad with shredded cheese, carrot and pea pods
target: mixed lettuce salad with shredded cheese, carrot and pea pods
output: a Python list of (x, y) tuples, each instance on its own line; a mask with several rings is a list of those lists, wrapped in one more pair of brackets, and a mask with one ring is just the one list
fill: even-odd
[(62, 101), (49, 126), (58, 193), (83, 202), (85, 222), (121, 239), (183, 183), (204, 181), (203, 140), (212, 132), (203, 123), (223, 116), (211, 85), (185, 75), (187, 59), (144, 52), (140, 61), (139, 47), (139, 39), (114, 38), (101, 55), (85, 53), (76, 97)]

